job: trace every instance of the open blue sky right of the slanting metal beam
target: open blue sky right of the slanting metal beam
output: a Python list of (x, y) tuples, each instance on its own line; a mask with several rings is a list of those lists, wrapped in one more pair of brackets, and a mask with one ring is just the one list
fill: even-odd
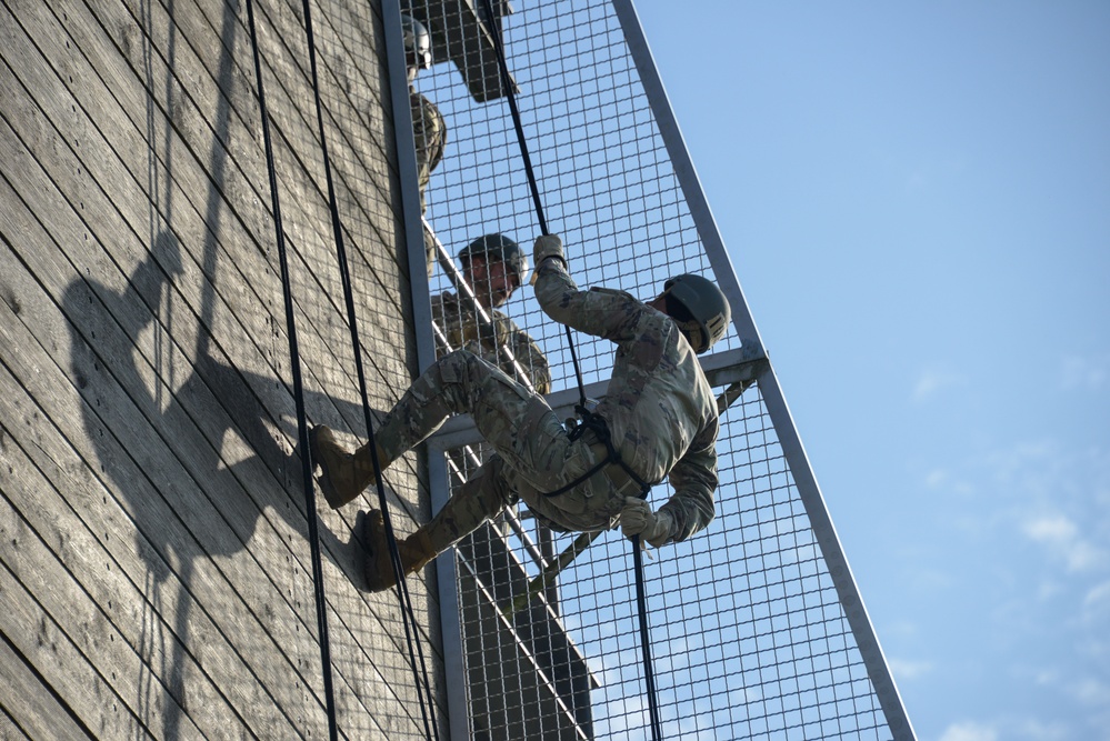
[(922, 741), (1110, 739), (1110, 3), (638, 0)]

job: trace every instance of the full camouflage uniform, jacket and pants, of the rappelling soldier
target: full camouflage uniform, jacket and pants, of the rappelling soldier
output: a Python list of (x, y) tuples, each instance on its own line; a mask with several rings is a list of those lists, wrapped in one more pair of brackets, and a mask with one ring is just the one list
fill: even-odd
[[(623, 460), (644, 481), (669, 477), (662, 505), (683, 540), (713, 519), (717, 488), (717, 404), (701, 366), (666, 314), (619, 291), (579, 291), (553, 260), (538, 269), (536, 297), (552, 319), (617, 343), (609, 392), (597, 413), (608, 422)], [(434, 432), (451, 414), (469, 412), (497, 450), (418, 533), (438, 551), (523, 499), (560, 530), (611, 528), (638, 485), (617, 464), (579, 481), (606, 449), (592, 432), (570, 440), (544, 399), (466, 350), (432, 364), (387, 415), (377, 433), (386, 461)], [(548, 497), (578, 481), (570, 491)]]

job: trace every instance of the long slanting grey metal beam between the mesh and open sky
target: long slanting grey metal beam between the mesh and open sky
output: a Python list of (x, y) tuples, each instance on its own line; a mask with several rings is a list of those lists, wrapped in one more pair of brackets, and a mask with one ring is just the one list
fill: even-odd
[[(633, 8), (631, 0), (612, 0), (612, 3), (621, 28), (624, 31), (624, 40), (628, 42), (629, 50), (632, 53), (632, 59), (640, 74), (640, 81), (647, 92), (648, 102), (656, 117), (663, 143), (670, 154), (671, 163), (674, 167), (682, 192), (686, 196), (687, 204), (690, 207), (698, 233), (706, 246), (706, 252), (710, 264), (713, 267), (714, 277), (732, 304), (732, 323), (742, 341), (741, 347), (748, 350), (748, 352), (744, 352), (744, 356), (751, 359), (764, 357), (759, 331), (756, 329), (756, 323), (748, 309), (748, 302), (743, 298), (743, 291), (740, 290), (739, 279), (732, 267), (732, 261), (724, 249), (724, 242), (721, 239), (720, 230), (717, 228), (717, 221), (709, 208), (709, 202), (701, 188), (701, 181), (698, 179), (693, 161), (690, 159), (690, 152), (686, 148), (682, 132), (674, 118), (674, 112), (671, 109), (667, 91), (659, 77), (659, 71), (656, 69), (656, 62), (651, 56), (651, 49), (648, 47), (648, 41), (643, 36), (643, 28), (640, 26), (636, 8)], [(829, 517), (829, 510), (824, 504), (824, 498), (817, 483), (809, 457), (802, 447), (798, 429), (790, 414), (790, 409), (787, 407), (786, 398), (782, 395), (774, 369), (770, 363), (767, 363), (759, 377), (759, 389), (763, 395), (768, 414), (774, 425), (776, 434), (779, 438), (779, 444), (782, 447), (783, 455), (790, 467), (794, 485), (798, 487), (798, 493), (806, 507), (813, 532), (820, 543), (821, 553), (829, 567), (829, 573), (837, 587), (840, 604), (844, 609), (848, 623), (851, 625), (852, 634), (856, 637), (860, 655), (867, 667), (868, 677), (872, 685), (874, 685), (879, 704), (887, 718), (887, 724), (896, 741), (913, 741), (917, 738), (913, 727), (906, 713), (906, 707), (898, 692), (898, 687), (894, 684), (890, 668), (887, 665), (887, 659), (883, 655), (882, 648), (879, 645), (879, 639), (876, 635), (874, 627), (871, 624), (867, 608), (863, 605), (863, 599), (856, 584), (856, 578), (852, 575), (847, 558), (844, 558), (840, 539)]]

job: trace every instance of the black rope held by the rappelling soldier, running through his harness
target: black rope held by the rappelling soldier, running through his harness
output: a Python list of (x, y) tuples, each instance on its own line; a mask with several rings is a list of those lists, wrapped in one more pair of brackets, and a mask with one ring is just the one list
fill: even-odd
[[(493, 39), (493, 50), (497, 52), (498, 69), (501, 73), (501, 87), (504, 88), (506, 98), (509, 102), (509, 111), (512, 113), (512, 123), (517, 130), (517, 142), (520, 144), (520, 154), (524, 163), (524, 173), (528, 177), (528, 186), (532, 193), (532, 203), (536, 207), (536, 218), (540, 224), (540, 233), (547, 236), (548, 224), (547, 220), (543, 218), (543, 204), (540, 202), (540, 189), (536, 181), (536, 173), (532, 170), (532, 161), (528, 154), (528, 143), (524, 138), (524, 128), (520, 121), (520, 111), (517, 109), (517, 99), (512, 92), (512, 78), (509, 77), (509, 66), (506, 62), (504, 48), (501, 43), (501, 36), (498, 33), (494, 20), (497, 16), (493, 14), (493, 6), (490, 0), (482, 0), (482, 6), (486, 10), (487, 22), (490, 28), (490, 36)], [(536, 269), (539, 270), (539, 266)], [(606, 463), (616, 462), (620, 464), (624, 471), (632, 477), (633, 481), (641, 485), (641, 495), (647, 498), (648, 490), (651, 488), (650, 484), (644, 483), (634, 472), (620, 459), (620, 454), (616, 451), (612, 441), (609, 438), (608, 429), (603, 431), (599, 428), (604, 428), (604, 420), (600, 417), (594, 415), (587, 408), (586, 399), (586, 384), (582, 381), (582, 371), (578, 366), (578, 354), (574, 350), (574, 338), (571, 333), (569, 326), (566, 326), (567, 330), (567, 347), (570, 350), (570, 358), (574, 366), (574, 377), (578, 380), (578, 393), (580, 398), (580, 403), (577, 411), (582, 417), (582, 425), (577, 428), (574, 432), (581, 434), (584, 427), (592, 427), (597, 434), (603, 435), (601, 439), (606, 443), (606, 449), (609, 452), (609, 458), (601, 465), (597, 467), (589, 475), (600, 470)], [(588, 478), (588, 477), (587, 477)], [(579, 479), (572, 482), (571, 487), (577, 485), (584, 479)], [(569, 487), (567, 487), (569, 488)], [(567, 489), (564, 488), (564, 489)], [(643, 579), (643, 561), (640, 555), (640, 537), (633, 535), (630, 538), (632, 543), (632, 563), (636, 571), (636, 593), (637, 593), (637, 608), (639, 612), (640, 621), (640, 645), (643, 652), (643, 678), (644, 687), (648, 693), (648, 710), (651, 720), (651, 738), (653, 741), (662, 741), (662, 724), (659, 717), (659, 701), (656, 697), (656, 678), (652, 671), (651, 662), (651, 648), (650, 648), (650, 631), (648, 629), (648, 603), (644, 595), (644, 579)]]

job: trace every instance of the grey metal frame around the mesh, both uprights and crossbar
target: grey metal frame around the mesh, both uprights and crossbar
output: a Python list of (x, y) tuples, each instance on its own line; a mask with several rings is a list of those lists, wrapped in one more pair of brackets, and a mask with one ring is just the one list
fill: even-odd
[[(790, 468), (794, 485), (806, 507), (807, 514), (820, 544), (829, 573), (836, 584), (838, 598), (857, 641), (868, 677), (874, 687), (880, 707), (896, 741), (914, 741), (916, 734), (906, 713), (886, 657), (879, 645), (874, 628), (863, 604), (859, 588), (844, 557), (839, 537), (829, 517), (820, 487), (794, 425), (773, 368), (767, 360), (762, 339), (748, 308), (736, 270), (724, 248), (716, 219), (706, 199), (701, 182), (690, 158), (686, 142), (674, 118), (666, 89), (643, 36), (642, 27), (631, 0), (612, 0), (612, 7), (624, 33), (633, 62), (643, 84), (661, 138), (681, 186), (691, 217), (706, 248), (718, 284), (733, 308), (732, 322), (740, 338), (740, 350), (717, 353), (704, 359), (707, 372), (714, 374), (714, 385), (756, 378), (774, 425), (776, 434)], [(431, 331), (429, 283), (426, 272), (423, 232), (421, 227), (419, 188), (417, 184), (416, 147), (409, 112), (408, 79), (401, 41), (400, 8), (394, 2), (382, 3), (386, 46), (393, 104), (393, 126), (398, 148), (398, 167), (401, 178), (401, 202), (408, 247), (409, 274), (412, 296), (412, 316), (416, 324), (417, 358), (420, 370), (436, 359), (434, 338)], [(424, 299), (424, 300), (421, 300)], [(594, 389), (593, 387), (598, 387)], [(587, 392), (599, 398), (604, 382), (591, 384)], [(577, 391), (564, 390), (549, 395), (557, 410), (573, 407)], [(477, 431), (467, 418), (450, 420), (434, 435), (428, 457), (432, 510), (440, 509), (449, 495), (449, 475), (444, 455), (440, 451), (476, 442)], [(456, 560), (446, 553), (437, 560), (440, 618), (443, 630), (444, 670), (448, 677), (449, 732), (452, 739), (469, 737), (466, 669), (462, 662), (462, 625), (459, 598), (456, 591)], [(456, 681), (459, 680), (459, 681)]]

